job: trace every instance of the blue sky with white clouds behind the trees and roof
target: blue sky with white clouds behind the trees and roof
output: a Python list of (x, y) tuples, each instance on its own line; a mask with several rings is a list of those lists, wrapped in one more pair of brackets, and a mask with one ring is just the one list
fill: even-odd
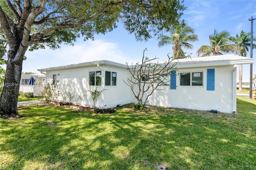
[[(210, 45), (209, 35), (216, 29), (218, 32), (227, 30), (231, 36), (240, 35), (241, 30), (251, 31), (252, 16), (256, 18), (256, 0), (185, 0), (182, 19), (188, 26), (194, 28), (198, 35), (198, 42), (191, 42), (192, 50), (184, 49), (187, 53), (196, 56), (196, 50), (202, 45)], [(256, 20), (254, 20), (254, 37), (256, 37)], [(166, 32), (165, 35), (170, 36)], [(255, 42), (254, 42), (255, 43)], [(158, 47), (157, 38), (148, 42), (136, 42), (134, 35), (129, 35), (122, 24), (105, 35), (95, 35), (94, 41), (84, 42), (78, 39), (74, 46), (61, 45), (60, 49), (39, 49), (27, 51), (27, 60), (23, 62), (23, 72), (37, 69), (55, 67), (97, 60), (110, 60), (119, 63), (132, 63), (140, 61), (143, 50), (147, 48), (146, 56), (158, 57), (158, 61), (167, 59), (167, 54), (172, 53), (172, 45)], [(250, 57), (250, 49), (247, 53)], [(253, 59), (256, 61), (256, 50), (253, 50)], [(256, 74), (256, 64), (253, 64), (253, 75)], [(243, 66), (243, 81), (249, 81), (250, 65)]]

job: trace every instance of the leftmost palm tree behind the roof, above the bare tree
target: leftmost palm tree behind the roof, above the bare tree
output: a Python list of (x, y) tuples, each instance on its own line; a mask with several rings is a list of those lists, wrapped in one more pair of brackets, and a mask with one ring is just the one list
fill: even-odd
[(188, 42), (198, 41), (198, 36), (194, 34), (194, 29), (187, 24), (179, 24), (171, 29), (171, 36), (161, 36), (158, 42), (158, 47), (164, 45), (173, 44), (173, 56), (174, 58), (184, 58), (185, 53), (182, 47), (192, 49), (193, 45)]

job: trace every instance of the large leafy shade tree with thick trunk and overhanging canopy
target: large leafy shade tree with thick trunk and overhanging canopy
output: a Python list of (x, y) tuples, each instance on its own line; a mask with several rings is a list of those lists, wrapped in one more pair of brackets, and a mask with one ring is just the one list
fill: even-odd
[(22, 62), (26, 51), (73, 45), (94, 39), (122, 22), (136, 40), (146, 41), (177, 25), (186, 8), (180, 0), (1, 0), (0, 26), (8, 42), (8, 61), (0, 114), (17, 115)]

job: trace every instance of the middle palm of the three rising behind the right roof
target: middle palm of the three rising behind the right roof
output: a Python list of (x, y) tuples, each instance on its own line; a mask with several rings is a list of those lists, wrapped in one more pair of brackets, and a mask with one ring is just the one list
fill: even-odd
[(202, 45), (197, 51), (198, 57), (206, 57), (210, 55), (222, 55), (223, 53), (228, 53), (234, 51), (234, 44), (230, 44), (230, 35), (226, 30), (218, 33), (214, 29), (214, 33), (209, 36), (210, 44)]

